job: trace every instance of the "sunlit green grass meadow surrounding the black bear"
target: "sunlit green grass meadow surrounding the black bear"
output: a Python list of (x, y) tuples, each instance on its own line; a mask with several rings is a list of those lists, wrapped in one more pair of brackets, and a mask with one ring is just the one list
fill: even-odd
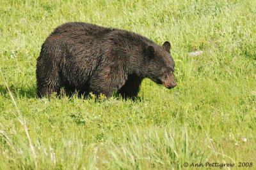
[[(255, 0), (3, 0), (0, 11), (0, 169), (256, 168)], [(38, 99), (41, 45), (69, 21), (171, 41), (177, 87)]]

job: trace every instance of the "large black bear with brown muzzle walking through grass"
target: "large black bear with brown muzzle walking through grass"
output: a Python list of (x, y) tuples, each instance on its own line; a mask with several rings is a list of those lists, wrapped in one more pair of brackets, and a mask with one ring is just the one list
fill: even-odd
[(48, 36), (36, 62), (38, 97), (117, 92), (136, 97), (143, 78), (176, 86), (170, 43), (159, 46), (144, 36), (83, 22), (63, 24)]

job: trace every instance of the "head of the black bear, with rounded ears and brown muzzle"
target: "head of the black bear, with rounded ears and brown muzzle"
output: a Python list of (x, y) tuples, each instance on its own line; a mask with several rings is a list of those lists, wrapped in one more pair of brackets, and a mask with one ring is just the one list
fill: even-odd
[(145, 76), (168, 89), (176, 86), (173, 74), (175, 64), (170, 48), (168, 41), (163, 46), (149, 45), (145, 48)]

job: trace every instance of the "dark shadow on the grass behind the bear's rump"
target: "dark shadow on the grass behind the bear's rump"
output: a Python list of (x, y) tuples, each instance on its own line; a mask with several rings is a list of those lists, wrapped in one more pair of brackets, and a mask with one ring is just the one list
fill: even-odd
[[(31, 85), (29, 87), (17, 87), (15, 85), (10, 85), (9, 89), (14, 97), (24, 97), (24, 98), (38, 98), (36, 95), (36, 85)], [(8, 89), (5, 85), (0, 85), (0, 93), (3, 96), (9, 96)]]

